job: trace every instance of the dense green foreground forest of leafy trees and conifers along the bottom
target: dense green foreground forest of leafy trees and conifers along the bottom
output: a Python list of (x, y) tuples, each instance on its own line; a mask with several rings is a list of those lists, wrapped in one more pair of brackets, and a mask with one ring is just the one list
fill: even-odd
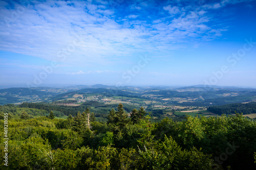
[[(2, 161), (1, 169), (256, 168), (256, 122), (242, 114), (154, 123), (143, 107), (128, 116), (119, 104), (98, 122), (89, 107), (59, 118), (62, 112), (32, 106), (39, 104), (1, 106), (9, 138), (8, 166)], [(0, 147), (3, 157), (4, 133)]]

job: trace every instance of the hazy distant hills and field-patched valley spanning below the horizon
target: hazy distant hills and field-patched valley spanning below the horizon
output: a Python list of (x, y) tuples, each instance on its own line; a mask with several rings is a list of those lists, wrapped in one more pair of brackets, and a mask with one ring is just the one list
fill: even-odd
[[(86, 88), (83, 88), (86, 87)], [(94, 88), (97, 87), (97, 88)], [(99, 88), (100, 87), (100, 88)], [(121, 98), (119, 98), (121, 97)], [(256, 101), (256, 89), (227, 87), (112, 87), (104, 85), (67, 88), (32, 87), (0, 89), (0, 105), (23, 102), (99, 102), (206, 107)]]

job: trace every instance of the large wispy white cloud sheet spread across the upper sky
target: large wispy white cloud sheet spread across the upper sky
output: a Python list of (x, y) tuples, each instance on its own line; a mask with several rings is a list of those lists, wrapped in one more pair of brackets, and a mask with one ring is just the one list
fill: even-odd
[[(211, 23), (214, 18), (208, 10), (239, 1), (225, 0), (195, 10), (191, 4), (155, 7), (154, 3), (133, 3), (131, 11), (122, 14), (118, 12), (122, 4), (115, 9), (101, 0), (33, 1), (26, 7), (13, 2), (14, 9), (1, 2), (0, 50), (77, 65), (125, 63), (139, 53), (166, 54), (188, 42), (220, 37), (226, 29)], [(23, 11), (13, 18), (18, 9)], [(80, 43), (74, 45), (74, 41)]]

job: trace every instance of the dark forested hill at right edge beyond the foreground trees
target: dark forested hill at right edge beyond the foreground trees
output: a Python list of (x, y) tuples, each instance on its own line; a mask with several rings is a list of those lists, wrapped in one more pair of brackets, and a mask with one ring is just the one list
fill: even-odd
[(216, 113), (216, 114), (235, 114), (244, 113), (256, 113), (256, 102), (250, 103), (234, 103), (222, 106), (210, 106), (207, 108), (209, 112)]

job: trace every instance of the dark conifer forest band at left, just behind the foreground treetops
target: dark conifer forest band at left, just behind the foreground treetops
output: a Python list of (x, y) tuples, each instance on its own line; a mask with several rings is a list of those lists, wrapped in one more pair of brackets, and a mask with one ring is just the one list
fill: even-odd
[[(53, 111), (57, 117), (62, 116), (76, 116), (77, 112), (83, 112), (87, 108), (91, 110), (91, 112), (94, 112), (95, 117), (100, 122), (106, 122), (107, 119), (107, 113), (112, 109), (116, 108), (118, 104), (104, 104), (97, 101), (90, 101), (90, 102), (84, 102), (80, 106), (63, 106), (63, 105), (55, 105), (55, 104), (47, 104), (47, 103), (22, 103), (20, 105), (14, 105), (14, 104), (6, 104), (4, 106), (0, 106), (0, 111), (5, 113), (11, 113), (14, 114), (17, 112), (17, 109), (20, 108), (31, 108), (38, 109), (38, 113), (34, 113), (35, 111), (27, 110), (27, 112), (30, 113), (31, 116), (46, 116), (49, 114), (50, 111)], [(123, 109), (126, 113), (132, 112), (133, 109), (139, 109), (138, 106), (132, 106), (128, 104), (123, 104)], [(148, 112), (152, 112), (152, 116), (162, 118), (163, 111), (162, 110), (154, 110), (150, 107), (147, 109)]]

